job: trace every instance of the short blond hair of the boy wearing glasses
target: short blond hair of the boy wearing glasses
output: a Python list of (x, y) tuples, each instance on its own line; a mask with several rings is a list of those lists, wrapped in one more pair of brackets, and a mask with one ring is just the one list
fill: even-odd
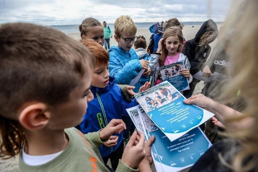
[(137, 32), (137, 27), (134, 21), (128, 15), (121, 15), (116, 19), (114, 23), (115, 34), (117, 36), (125, 35), (135, 35)]

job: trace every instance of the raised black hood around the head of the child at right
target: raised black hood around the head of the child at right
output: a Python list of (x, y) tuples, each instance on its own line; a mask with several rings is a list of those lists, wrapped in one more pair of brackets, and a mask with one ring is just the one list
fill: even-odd
[[(206, 32), (206, 31), (217, 31), (218, 32), (218, 27), (217, 24), (213, 21), (213, 20), (207, 20), (203, 23), (203, 25), (201, 26), (201, 28), (199, 29), (199, 31), (197, 32), (197, 34), (195, 35), (195, 41), (196, 42), (200, 42), (200, 38), (201, 36)], [(217, 34), (218, 36), (218, 34)], [(214, 41), (217, 36), (215, 36), (213, 38), (212, 41)]]

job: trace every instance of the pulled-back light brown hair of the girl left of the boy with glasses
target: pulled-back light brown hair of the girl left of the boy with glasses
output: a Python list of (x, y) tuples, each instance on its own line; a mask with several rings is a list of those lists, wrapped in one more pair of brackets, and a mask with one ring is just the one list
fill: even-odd
[(95, 18), (85, 18), (84, 21), (81, 22), (79, 25), (79, 31), (81, 32), (81, 39), (82, 35), (87, 36), (89, 30), (96, 26), (102, 26), (101, 23)]

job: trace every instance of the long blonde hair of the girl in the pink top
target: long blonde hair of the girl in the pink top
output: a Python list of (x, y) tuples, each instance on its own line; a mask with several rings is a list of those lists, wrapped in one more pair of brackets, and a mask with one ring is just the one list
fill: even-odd
[(180, 44), (177, 48), (177, 52), (180, 52), (182, 46), (183, 46), (183, 41), (184, 41), (184, 37), (183, 37), (183, 33), (182, 33), (182, 30), (179, 28), (179, 27), (171, 27), (171, 28), (168, 28), (164, 34), (163, 34), (163, 41), (161, 42), (161, 45), (162, 45), (162, 53), (160, 55), (160, 58), (159, 58), (159, 65), (160, 67), (163, 66), (164, 64), (164, 61), (165, 61), (165, 58), (167, 57), (168, 55), (168, 52), (167, 52), (167, 49), (166, 49), (166, 45), (164, 44), (164, 42), (166, 41), (166, 39), (170, 36), (178, 36), (179, 38), (179, 41), (180, 41)]

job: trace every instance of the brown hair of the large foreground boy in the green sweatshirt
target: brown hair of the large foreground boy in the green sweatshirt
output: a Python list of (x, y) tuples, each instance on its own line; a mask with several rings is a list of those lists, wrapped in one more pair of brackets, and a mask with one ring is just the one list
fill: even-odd
[(25, 141), (17, 111), (27, 102), (55, 106), (90, 73), (94, 59), (68, 35), (26, 23), (0, 27), (0, 156), (18, 154)]

